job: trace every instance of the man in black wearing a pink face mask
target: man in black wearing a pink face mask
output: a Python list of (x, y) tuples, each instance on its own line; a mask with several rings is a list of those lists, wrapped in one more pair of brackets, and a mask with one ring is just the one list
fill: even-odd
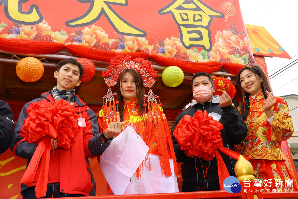
[[(234, 143), (240, 144), (247, 135), (246, 124), (238, 109), (232, 105), (230, 96), (226, 91), (223, 91), (220, 97), (218, 95), (212, 96), (214, 89), (213, 79), (208, 73), (196, 73), (192, 79), (192, 91), (197, 104), (180, 113), (172, 128), (173, 146), (177, 162), (182, 162), (182, 192), (220, 190), (216, 158), (213, 158), (211, 161), (205, 161), (202, 158), (199, 160), (197, 158), (195, 161), (194, 156), (187, 156), (186, 151), (180, 149), (177, 140), (173, 136), (175, 127), (184, 115), (193, 116), (198, 109), (202, 112), (206, 110), (209, 115), (212, 115), (213, 118), (223, 124), (224, 128), (221, 130), (223, 146), (233, 151), (235, 151)], [(234, 171), (236, 160), (222, 152), (220, 154), (229, 174), (236, 177)]]

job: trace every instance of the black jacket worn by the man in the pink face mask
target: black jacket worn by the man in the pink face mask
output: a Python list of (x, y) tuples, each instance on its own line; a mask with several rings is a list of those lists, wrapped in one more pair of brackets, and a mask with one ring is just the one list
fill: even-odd
[[(196, 160), (197, 169), (195, 169), (195, 158), (187, 157), (184, 154), (184, 151), (181, 151), (177, 140), (173, 137), (173, 131), (184, 115), (193, 116), (198, 109), (201, 110), (202, 112), (206, 110), (208, 113), (214, 112), (221, 115), (219, 122), (224, 126), (224, 128), (221, 130), (223, 146), (233, 151), (235, 151), (234, 143), (239, 144), (246, 137), (247, 127), (237, 108), (233, 105), (220, 107), (218, 99), (219, 99), (219, 96), (215, 96), (213, 97), (213, 100), (211, 102), (205, 102), (204, 105), (197, 103), (190, 109), (187, 109), (184, 112), (180, 113), (175, 120), (175, 123), (172, 128), (173, 146), (174, 146), (174, 151), (176, 154), (177, 161), (182, 162), (181, 172), (182, 172), (182, 178), (184, 183), (196, 183), (197, 182), (196, 170), (199, 172), (199, 174), (203, 175), (202, 166), (204, 168), (204, 172), (206, 172), (206, 166), (208, 167), (209, 165), (209, 161), (204, 161), (203, 159), (201, 159), (200, 161), (199, 159), (197, 159)], [(225, 155), (222, 152), (220, 152), (220, 154), (224, 160), (224, 163), (226, 164), (226, 167), (230, 175), (235, 176), (234, 166), (235, 166), (236, 160), (234, 160), (233, 158), (230, 158), (229, 156)], [(198, 176), (199, 176), (198, 182), (205, 182), (204, 176), (201, 176), (201, 177), (200, 175)], [(210, 161), (210, 165), (207, 170), (207, 177), (208, 177), (208, 182), (218, 180), (218, 167), (217, 167), (216, 158)]]

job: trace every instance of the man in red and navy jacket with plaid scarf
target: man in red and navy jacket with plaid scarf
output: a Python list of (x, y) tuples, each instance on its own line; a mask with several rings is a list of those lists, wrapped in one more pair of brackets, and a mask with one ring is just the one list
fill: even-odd
[[(82, 75), (83, 67), (75, 59), (69, 58), (60, 61), (57, 65), (57, 71), (54, 72), (54, 77), (57, 78), (57, 87), (41, 94), (40, 98), (25, 104), (18, 118), (11, 149), (15, 155), (28, 159), (27, 169), (39, 142), (31, 144), (27, 142), (26, 137), (28, 137), (29, 132), (24, 127), (23, 122), (36, 107), (39, 105), (49, 106), (56, 100), (63, 99), (75, 109), (80, 117), (74, 121), (80, 121), (78, 122), (80, 131), (75, 138), (75, 144), (70, 149), (58, 147), (57, 143), (60, 143), (58, 138), (51, 138), (51, 151), (47, 164), (49, 165), (47, 185), (43, 187), (46, 193), (44, 195), (44, 193), (40, 194), (39, 192), (39, 197), (60, 198), (95, 195), (95, 181), (88, 158), (94, 158), (103, 153), (109, 145), (108, 139), (121, 132), (121, 123), (118, 117), (118, 122), (114, 122), (116, 124), (109, 126), (104, 133), (99, 134), (95, 113), (75, 95), (74, 88), (80, 85)], [(49, 115), (46, 116), (49, 117)], [(63, 140), (60, 141), (63, 142)], [(32, 179), (32, 183), (22, 183), (21, 185), (21, 194), (24, 199), (36, 198), (38, 194), (35, 194), (35, 187), (41, 182), (39, 177), (45, 176), (41, 171), (41, 164), (42, 162), (37, 165), (36, 175)]]

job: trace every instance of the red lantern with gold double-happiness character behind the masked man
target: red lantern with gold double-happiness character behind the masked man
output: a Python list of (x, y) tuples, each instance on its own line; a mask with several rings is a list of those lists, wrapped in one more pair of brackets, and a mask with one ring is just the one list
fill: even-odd
[(216, 77), (212, 76), (213, 84), (215, 85), (215, 91), (213, 92), (213, 96), (219, 95), (221, 96), (223, 91), (226, 91), (231, 99), (234, 98), (236, 93), (236, 88), (233, 85), (232, 81), (224, 78), (224, 77)]

